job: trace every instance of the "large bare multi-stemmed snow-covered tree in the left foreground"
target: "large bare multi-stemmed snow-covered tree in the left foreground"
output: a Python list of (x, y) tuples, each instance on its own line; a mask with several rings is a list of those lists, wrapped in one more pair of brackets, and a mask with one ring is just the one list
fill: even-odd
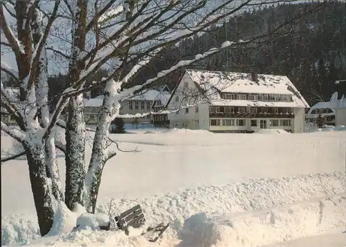
[[(51, 229), (56, 207), (61, 203), (71, 210), (79, 203), (88, 212), (95, 211), (102, 170), (116, 155), (108, 149), (109, 125), (118, 116), (121, 100), (177, 68), (223, 49), (231, 50), (258, 39), (263, 42), (265, 34), (246, 41), (225, 41), (219, 48), (180, 61), (146, 82), (127, 88), (131, 77), (163, 48), (203, 32), (245, 8), (264, 3), (277, 1), (1, 1), (1, 51), (10, 54), (1, 57), (1, 71), (19, 84), (19, 95), (15, 95), (1, 82), (1, 111), (11, 114), (19, 127), (9, 127), (1, 121), (1, 131), (15, 138), (25, 151), (41, 235)], [(271, 28), (271, 34), (282, 26), (284, 23)], [(86, 84), (100, 69), (107, 69), (108, 75)], [(52, 71), (66, 73), (69, 85), (57, 95), (59, 100), (50, 112), (47, 81)], [(105, 88), (104, 100), (91, 159), (86, 162), (83, 94), (100, 86)], [(60, 119), (64, 110), (66, 122)], [(57, 126), (65, 129), (66, 145), (55, 139)], [(60, 184), (57, 149), (65, 154), (65, 192)]]

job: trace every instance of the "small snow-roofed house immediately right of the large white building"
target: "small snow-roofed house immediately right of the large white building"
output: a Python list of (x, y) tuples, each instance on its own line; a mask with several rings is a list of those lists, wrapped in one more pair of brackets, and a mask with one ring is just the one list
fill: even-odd
[(318, 116), (321, 116), (325, 125), (335, 125), (335, 109), (331, 109), (330, 103), (318, 102), (307, 112), (307, 123), (315, 124)]

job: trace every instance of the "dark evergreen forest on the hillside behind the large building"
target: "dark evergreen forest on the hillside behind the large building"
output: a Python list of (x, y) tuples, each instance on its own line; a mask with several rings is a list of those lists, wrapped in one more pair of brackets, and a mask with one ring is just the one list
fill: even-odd
[[(208, 33), (186, 39), (177, 46), (165, 48), (160, 58), (141, 69), (128, 86), (143, 83), (180, 60), (221, 46), (225, 40), (246, 40), (253, 35), (271, 33), (271, 30), (291, 16), (307, 8), (313, 8), (316, 4), (310, 2), (265, 6), (260, 10), (249, 10), (237, 17), (231, 17), (226, 24), (214, 26)], [(310, 15), (304, 15), (282, 28), (279, 35), (268, 35), (252, 44), (229, 48), (228, 51), (208, 57), (188, 68), (286, 75), (310, 105), (329, 100), (335, 90), (334, 82), (346, 79), (345, 7), (345, 3), (340, 1), (325, 2), (323, 8)], [(167, 84), (172, 89), (183, 71), (184, 68), (181, 68), (163, 77), (158, 83)], [(104, 73), (100, 71), (87, 83), (100, 80)], [(53, 102), (51, 107), (56, 103), (54, 97), (64, 90), (66, 80), (66, 75), (49, 78)], [(100, 93), (102, 88), (95, 89), (89, 96), (95, 97)]]

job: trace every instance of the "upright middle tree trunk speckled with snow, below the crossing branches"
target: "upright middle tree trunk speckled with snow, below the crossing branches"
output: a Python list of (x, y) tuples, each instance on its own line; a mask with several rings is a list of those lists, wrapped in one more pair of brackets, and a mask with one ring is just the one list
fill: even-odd
[(85, 122), (83, 112), (83, 95), (71, 98), (69, 117), (66, 122), (66, 188), (65, 203), (73, 210), (75, 203), (84, 205), (84, 152)]

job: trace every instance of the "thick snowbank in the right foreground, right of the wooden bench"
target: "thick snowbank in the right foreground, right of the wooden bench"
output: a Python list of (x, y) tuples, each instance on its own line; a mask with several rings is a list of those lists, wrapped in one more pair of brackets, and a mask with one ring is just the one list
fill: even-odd
[(343, 228), (345, 193), (268, 210), (194, 214), (185, 220), (179, 246), (262, 246)]

